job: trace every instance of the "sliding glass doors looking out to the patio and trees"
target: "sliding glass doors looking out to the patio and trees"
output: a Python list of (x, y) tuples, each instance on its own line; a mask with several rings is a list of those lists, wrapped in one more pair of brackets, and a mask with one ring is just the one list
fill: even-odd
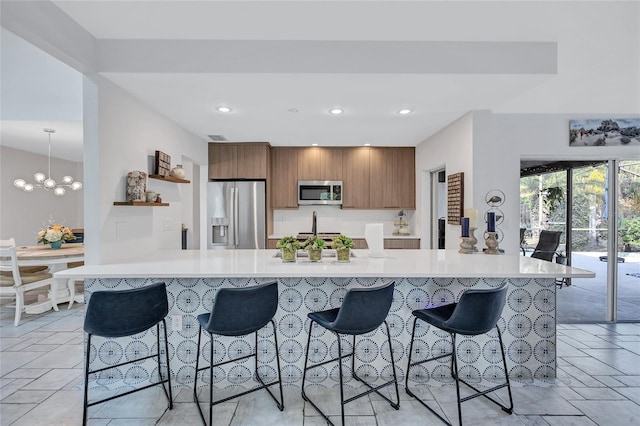
[(558, 283), (558, 322), (639, 321), (640, 161), (531, 163), (520, 179), (523, 254), (541, 230), (562, 231), (554, 260), (596, 274)]

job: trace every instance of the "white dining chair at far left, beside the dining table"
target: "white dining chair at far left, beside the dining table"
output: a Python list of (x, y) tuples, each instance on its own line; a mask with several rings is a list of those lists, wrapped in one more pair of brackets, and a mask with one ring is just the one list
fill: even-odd
[(31, 269), (34, 272), (24, 272), (28, 269), (18, 267), (15, 240), (13, 238), (0, 240), (0, 297), (15, 297), (14, 326), (20, 323), (20, 317), (24, 311), (24, 294), (30, 290), (51, 286), (55, 282), (53, 275), (46, 270), (38, 269), (40, 268)]

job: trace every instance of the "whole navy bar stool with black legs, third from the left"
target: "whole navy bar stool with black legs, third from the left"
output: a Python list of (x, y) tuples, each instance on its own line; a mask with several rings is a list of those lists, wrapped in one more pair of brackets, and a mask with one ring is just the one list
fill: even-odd
[[(380, 287), (350, 289), (344, 296), (342, 306), (340, 306), (339, 308), (320, 312), (311, 312), (307, 315), (311, 322), (309, 325), (309, 337), (307, 339), (304, 373), (302, 375), (302, 398), (309, 404), (311, 404), (313, 408), (315, 408), (330, 425), (333, 425), (333, 423), (331, 422), (331, 420), (329, 420), (329, 417), (324, 414), (322, 410), (320, 410), (320, 408), (318, 408), (318, 406), (313, 401), (311, 401), (305, 393), (304, 384), (307, 378), (308, 370), (334, 361), (338, 361), (338, 369), (340, 371), (340, 412), (342, 415), (343, 425), (345, 404), (355, 401), (356, 399), (368, 395), (372, 392), (377, 393), (382, 398), (387, 400), (396, 410), (400, 409), (400, 395), (398, 393), (398, 381), (396, 377), (396, 366), (393, 361), (393, 352), (391, 352), (391, 369), (393, 370), (393, 380), (390, 380), (376, 387), (371, 386), (369, 383), (365, 382), (356, 375), (354, 355), (356, 347), (356, 336), (376, 330), (378, 327), (380, 327), (380, 325), (382, 325), (382, 323), (384, 323), (387, 329), (389, 349), (391, 349), (391, 333), (389, 332), (389, 325), (387, 324), (386, 318), (393, 301), (394, 284), (395, 283), (393, 281), (390, 281)], [(332, 331), (336, 335), (338, 341), (338, 357), (330, 359), (328, 361), (320, 362), (318, 364), (314, 364), (312, 366), (308, 366), (309, 344), (311, 343), (311, 330), (313, 329), (314, 322), (318, 323), (318, 325), (326, 328), (327, 330)], [(340, 343), (341, 334), (353, 336), (353, 350), (350, 354), (342, 355), (342, 347)], [(367, 388), (369, 388), (369, 390), (345, 400), (342, 380), (342, 359), (348, 357), (351, 357), (351, 371), (353, 372), (353, 378), (358, 380), (359, 382), (362, 382)], [(385, 395), (380, 393), (381, 388), (389, 386), (391, 384), (395, 385), (397, 402), (393, 402)]]

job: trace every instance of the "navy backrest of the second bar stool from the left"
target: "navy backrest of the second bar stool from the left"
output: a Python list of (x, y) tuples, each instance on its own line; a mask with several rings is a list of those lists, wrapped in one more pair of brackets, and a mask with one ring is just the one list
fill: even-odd
[(251, 287), (221, 288), (213, 300), (208, 332), (243, 336), (267, 325), (278, 310), (278, 282)]

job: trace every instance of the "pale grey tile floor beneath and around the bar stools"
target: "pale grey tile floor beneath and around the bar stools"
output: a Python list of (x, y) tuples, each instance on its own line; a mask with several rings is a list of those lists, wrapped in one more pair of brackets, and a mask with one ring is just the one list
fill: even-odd
[[(27, 315), (13, 326), (12, 308), (0, 308), (0, 425), (79, 425), (82, 417), (83, 306)], [(484, 398), (463, 404), (468, 425), (640, 424), (640, 324), (558, 326), (558, 377), (513, 383), (515, 413)], [(451, 385), (420, 388), (449, 418), (456, 418)], [(335, 389), (314, 390), (315, 400), (339, 423)], [(377, 395), (347, 406), (349, 425), (441, 424), (400, 388), (394, 410)], [(200, 424), (189, 389), (178, 389), (173, 410), (159, 387), (92, 407), (89, 425)], [(504, 399), (504, 398), (503, 398)], [(322, 425), (321, 417), (285, 388), (285, 410), (266, 392), (215, 407), (216, 425)]]

